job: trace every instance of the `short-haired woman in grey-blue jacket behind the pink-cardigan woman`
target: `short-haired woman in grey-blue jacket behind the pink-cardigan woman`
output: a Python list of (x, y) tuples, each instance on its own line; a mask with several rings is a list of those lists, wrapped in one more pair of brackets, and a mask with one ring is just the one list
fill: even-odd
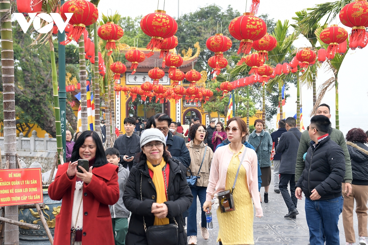
[(271, 183), (271, 151), (272, 138), (271, 135), (263, 130), (262, 119), (254, 121), (255, 130), (248, 138), (249, 144), (253, 145), (257, 153), (259, 166), (261, 167), (262, 187), (265, 187), (264, 201), (268, 202), (268, 189)]

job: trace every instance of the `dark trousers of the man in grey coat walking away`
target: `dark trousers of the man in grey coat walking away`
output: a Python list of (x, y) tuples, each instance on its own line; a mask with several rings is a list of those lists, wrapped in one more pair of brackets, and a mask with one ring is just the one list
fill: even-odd
[[(287, 184), (289, 183), (291, 197), (289, 195), (289, 191), (287, 190)], [(296, 209), (298, 199), (295, 196), (295, 174), (281, 173), (279, 189), (289, 212)]]

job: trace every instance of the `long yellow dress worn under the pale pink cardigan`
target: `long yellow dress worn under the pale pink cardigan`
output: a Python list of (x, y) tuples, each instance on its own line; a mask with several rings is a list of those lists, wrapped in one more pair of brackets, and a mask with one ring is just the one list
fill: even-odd
[[(229, 149), (231, 151), (230, 145)], [(231, 158), (229, 167), (227, 168), (225, 190), (231, 190), (233, 187), (236, 172), (240, 164), (239, 157), (241, 159), (243, 156), (244, 149), (245, 146)], [(221, 213), (220, 209), (217, 209), (217, 220), (219, 221), (217, 242), (221, 241), (223, 245), (254, 244), (253, 203), (248, 189), (247, 173), (243, 166), (239, 170), (233, 198), (235, 211)]]

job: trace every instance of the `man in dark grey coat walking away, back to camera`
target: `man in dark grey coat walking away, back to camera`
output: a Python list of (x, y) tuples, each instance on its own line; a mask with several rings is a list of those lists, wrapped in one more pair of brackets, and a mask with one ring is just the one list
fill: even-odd
[[(280, 161), (280, 191), (286, 203), (289, 213), (284, 218), (296, 218), (299, 214), (297, 210), (298, 199), (295, 196), (295, 165), (301, 132), (296, 128), (295, 118), (289, 117), (285, 120), (286, 133), (283, 133), (277, 144), (276, 152), (282, 154)], [(290, 183), (290, 194), (287, 185)]]

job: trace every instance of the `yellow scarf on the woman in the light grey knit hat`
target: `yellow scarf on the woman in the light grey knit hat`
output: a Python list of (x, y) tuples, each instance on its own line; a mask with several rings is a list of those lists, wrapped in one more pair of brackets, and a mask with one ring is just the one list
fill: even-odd
[[(161, 163), (154, 167), (152, 163), (150, 163), (147, 160), (147, 165), (148, 165), (148, 168), (153, 171), (152, 181), (156, 187), (156, 195), (157, 195), (156, 202), (164, 203), (167, 201), (167, 198), (166, 198), (166, 192), (165, 192), (165, 180), (163, 179), (162, 169), (165, 167), (166, 162), (162, 158)], [(163, 219), (159, 219), (158, 217), (155, 217), (155, 222), (153, 223), (154, 226), (161, 226), (164, 224), (169, 224), (169, 219), (167, 219), (166, 217)]]

